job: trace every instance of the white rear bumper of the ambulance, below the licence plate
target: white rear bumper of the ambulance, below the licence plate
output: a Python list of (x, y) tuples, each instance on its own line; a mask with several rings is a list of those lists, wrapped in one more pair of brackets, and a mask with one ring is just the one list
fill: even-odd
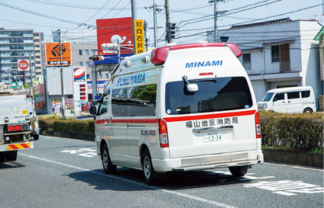
[(160, 173), (167, 171), (196, 171), (230, 166), (246, 166), (263, 162), (262, 150), (197, 157), (180, 157), (175, 159), (152, 159), (154, 170)]

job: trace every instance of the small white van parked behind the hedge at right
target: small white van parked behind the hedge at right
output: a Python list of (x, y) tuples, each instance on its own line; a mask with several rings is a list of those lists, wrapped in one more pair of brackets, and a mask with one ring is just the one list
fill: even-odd
[(285, 87), (271, 89), (257, 103), (259, 110), (275, 112), (312, 113), (316, 112), (315, 97), (312, 87)]

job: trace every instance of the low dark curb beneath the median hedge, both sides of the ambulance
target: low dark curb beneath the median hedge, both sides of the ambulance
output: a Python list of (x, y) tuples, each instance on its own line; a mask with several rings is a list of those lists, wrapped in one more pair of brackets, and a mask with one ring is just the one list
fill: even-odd
[[(49, 137), (79, 139), (84, 141), (95, 141), (94, 135), (90, 135), (90, 134), (40, 130), (40, 135), (49, 136)], [(272, 149), (262, 149), (262, 153), (264, 155), (264, 161), (266, 162), (278, 162), (284, 164), (324, 168), (324, 154), (317, 155), (317, 154), (311, 154), (305, 152), (291, 152), (285, 150), (272, 150)]]

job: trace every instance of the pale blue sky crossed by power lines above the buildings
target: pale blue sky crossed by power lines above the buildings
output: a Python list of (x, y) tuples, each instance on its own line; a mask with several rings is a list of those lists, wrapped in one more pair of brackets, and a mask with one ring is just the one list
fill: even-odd
[[(155, 0), (164, 6), (164, 0)], [(148, 22), (149, 44), (154, 44), (153, 0), (136, 0), (137, 19)], [(171, 23), (176, 24), (177, 44), (206, 39), (214, 30), (214, 3), (210, 0), (169, 0)], [(225, 0), (219, 2), (217, 28), (251, 24), (289, 17), (316, 19), (324, 26), (323, 0)], [(0, 0), (0, 28), (33, 29), (51, 42), (52, 32), (60, 29), (67, 37), (86, 36), (96, 41), (96, 19), (131, 17), (130, 0)], [(158, 46), (164, 46), (165, 9), (157, 13)], [(71, 38), (71, 42), (73, 38)]]

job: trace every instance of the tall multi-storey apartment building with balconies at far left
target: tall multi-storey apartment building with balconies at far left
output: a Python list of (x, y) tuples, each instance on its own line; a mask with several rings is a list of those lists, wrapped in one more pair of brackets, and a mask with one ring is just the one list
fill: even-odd
[[(31, 84), (31, 71), (19, 71), (19, 60), (31, 58), (33, 77), (41, 75), (40, 42), (44, 39), (43, 33), (34, 33), (31, 29), (0, 28), (0, 81), (5, 85), (10, 83)], [(36, 68), (37, 67), (37, 68)]]

